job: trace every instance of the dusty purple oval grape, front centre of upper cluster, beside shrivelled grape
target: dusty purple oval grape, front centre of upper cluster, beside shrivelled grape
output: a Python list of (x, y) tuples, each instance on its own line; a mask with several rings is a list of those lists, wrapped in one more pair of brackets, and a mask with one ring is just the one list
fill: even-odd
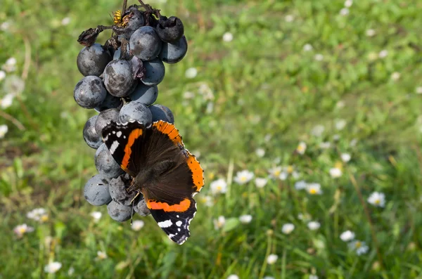
[(134, 91), (138, 81), (132, 77), (132, 65), (127, 60), (113, 60), (104, 70), (104, 84), (115, 97), (128, 96)]

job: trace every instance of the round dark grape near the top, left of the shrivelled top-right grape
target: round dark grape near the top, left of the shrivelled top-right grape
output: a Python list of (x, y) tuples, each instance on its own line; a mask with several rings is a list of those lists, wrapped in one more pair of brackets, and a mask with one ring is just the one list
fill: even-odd
[(161, 51), (162, 41), (151, 26), (143, 26), (136, 30), (129, 41), (130, 50), (141, 60), (151, 60)]

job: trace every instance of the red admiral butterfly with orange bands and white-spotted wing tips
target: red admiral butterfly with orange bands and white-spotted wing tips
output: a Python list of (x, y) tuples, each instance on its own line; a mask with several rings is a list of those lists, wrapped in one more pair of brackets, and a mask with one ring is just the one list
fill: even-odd
[(177, 244), (185, 242), (196, 214), (193, 195), (203, 187), (204, 176), (174, 124), (110, 122), (102, 137), (116, 162), (132, 176), (129, 189), (141, 191), (158, 226)]

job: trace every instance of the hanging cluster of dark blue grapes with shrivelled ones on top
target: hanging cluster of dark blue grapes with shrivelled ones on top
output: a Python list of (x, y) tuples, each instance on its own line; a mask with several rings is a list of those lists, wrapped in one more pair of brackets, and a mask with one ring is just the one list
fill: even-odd
[[(86, 183), (84, 197), (91, 205), (107, 205), (116, 221), (127, 221), (132, 212), (150, 214), (143, 198), (129, 191), (132, 177), (115, 162), (101, 139), (110, 121), (137, 120), (145, 126), (158, 120), (174, 123), (172, 111), (155, 104), (158, 84), (165, 76), (163, 63), (177, 63), (188, 49), (179, 18), (166, 18), (159, 10), (143, 4), (133, 5), (114, 15), (111, 27), (100, 25), (82, 32), (84, 46), (77, 56), (77, 67), (84, 77), (76, 84), (73, 96), (82, 108), (99, 112), (88, 119), (83, 136), (96, 149), (98, 174)], [(96, 37), (103, 30), (113, 35), (101, 45)], [(133, 210), (132, 210), (133, 209)]]

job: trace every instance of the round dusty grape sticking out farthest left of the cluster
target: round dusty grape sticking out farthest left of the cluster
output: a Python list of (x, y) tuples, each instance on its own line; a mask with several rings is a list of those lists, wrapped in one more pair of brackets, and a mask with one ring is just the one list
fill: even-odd
[(106, 99), (107, 91), (99, 77), (88, 76), (75, 86), (73, 97), (82, 108), (95, 108)]

